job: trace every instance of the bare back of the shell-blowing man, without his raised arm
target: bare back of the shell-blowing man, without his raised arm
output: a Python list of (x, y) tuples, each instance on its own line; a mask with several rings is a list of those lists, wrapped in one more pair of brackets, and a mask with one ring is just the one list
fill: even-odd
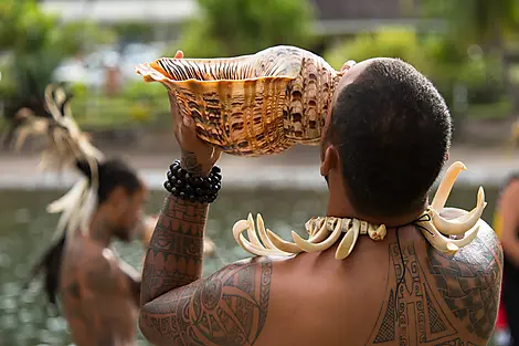
[(454, 258), (414, 227), (399, 238), (363, 238), (348, 261), (329, 250), (274, 262), (275, 307), (254, 345), (487, 345), (502, 262), (494, 231), (481, 228)]

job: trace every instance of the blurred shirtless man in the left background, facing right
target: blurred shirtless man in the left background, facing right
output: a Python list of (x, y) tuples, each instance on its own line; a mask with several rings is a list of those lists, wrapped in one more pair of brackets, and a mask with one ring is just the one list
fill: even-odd
[[(77, 168), (91, 176), (84, 161)], [(97, 208), (87, 233), (63, 232), (46, 250), (34, 272), (43, 272), (45, 291), (57, 305), (77, 346), (135, 345), (140, 274), (112, 250), (112, 242), (136, 237), (147, 199), (137, 172), (118, 159), (99, 164)]]

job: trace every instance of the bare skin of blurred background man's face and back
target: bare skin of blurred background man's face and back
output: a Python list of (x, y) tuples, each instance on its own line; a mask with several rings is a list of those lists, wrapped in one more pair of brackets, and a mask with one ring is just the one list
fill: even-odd
[(148, 198), (147, 188), (116, 187), (93, 217), (87, 234), (67, 241), (61, 271), (63, 314), (77, 346), (135, 345), (140, 274), (110, 250), (129, 242)]

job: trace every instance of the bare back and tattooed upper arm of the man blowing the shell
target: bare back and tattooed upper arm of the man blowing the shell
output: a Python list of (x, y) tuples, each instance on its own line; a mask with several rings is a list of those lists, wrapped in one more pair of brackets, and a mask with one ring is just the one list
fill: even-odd
[(145, 325), (160, 326), (158, 345), (487, 345), (502, 251), (479, 222), (454, 258), (409, 226), (381, 242), (361, 237), (348, 261), (331, 248), (237, 262), (158, 298)]

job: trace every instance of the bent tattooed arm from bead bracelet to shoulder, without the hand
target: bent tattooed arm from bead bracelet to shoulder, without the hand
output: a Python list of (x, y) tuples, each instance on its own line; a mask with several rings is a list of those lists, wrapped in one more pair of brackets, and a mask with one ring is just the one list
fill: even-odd
[(201, 279), (208, 209), (173, 195), (166, 200), (142, 273), (139, 327), (153, 345), (252, 345), (265, 325), (269, 259)]

